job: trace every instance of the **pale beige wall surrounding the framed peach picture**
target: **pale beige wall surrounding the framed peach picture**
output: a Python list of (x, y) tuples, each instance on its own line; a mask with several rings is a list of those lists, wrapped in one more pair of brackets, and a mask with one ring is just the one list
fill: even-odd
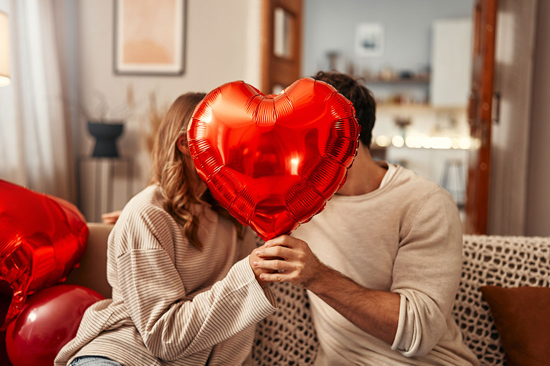
[[(77, 84), (80, 104), (97, 117), (101, 95), (108, 103), (108, 118), (117, 119), (130, 112), (124, 133), (118, 141), (119, 152), (134, 159), (133, 195), (149, 178), (149, 156), (144, 136), (149, 129), (147, 112), (149, 95), (155, 93), (158, 105), (168, 106), (180, 94), (189, 91), (208, 92), (234, 80), (245, 80), (259, 86), (260, 80), (260, 2), (256, 0), (187, 0), (185, 16), (185, 71), (182, 76), (120, 76), (113, 73), (113, 1), (81, 0), (74, 12), (77, 34), (75, 52), (78, 63)], [(68, 16), (72, 16), (69, 14)], [(136, 107), (125, 110), (127, 88), (134, 90)], [(92, 137), (84, 118), (78, 122), (78, 153), (90, 156)], [(93, 169), (81, 175), (81, 181), (95, 179)], [(122, 174), (122, 173), (121, 173)], [(118, 175), (118, 174), (117, 174)], [(124, 176), (122, 176), (122, 179)], [(126, 187), (117, 184), (117, 187)], [(120, 188), (121, 190), (123, 188)], [(124, 188), (125, 189), (125, 188)], [(118, 190), (118, 188), (117, 188)], [(83, 192), (90, 195), (92, 192)], [(103, 195), (105, 196), (105, 195)], [(122, 208), (124, 190), (115, 192)], [(122, 197), (121, 197), (122, 196)], [(102, 205), (100, 210), (110, 207)], [(84, 213), (90, 211), (84, 207)], [(88, 214), (87, 216), (90, 216)], [(97, 220), (87, 217), (88, 220)]]

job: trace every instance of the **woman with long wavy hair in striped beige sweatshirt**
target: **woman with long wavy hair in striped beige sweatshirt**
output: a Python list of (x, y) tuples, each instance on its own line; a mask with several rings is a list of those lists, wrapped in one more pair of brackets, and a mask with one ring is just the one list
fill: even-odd
[(189, 156), (186, 129), (203, 97), (187, 93), (169, 108), (152, 184), (109, 235), (113, 298), (86, 310), (56, 365), (243, 364), (254, 325), (275, 310), (251, 265), (256, 236), (219, 207)]

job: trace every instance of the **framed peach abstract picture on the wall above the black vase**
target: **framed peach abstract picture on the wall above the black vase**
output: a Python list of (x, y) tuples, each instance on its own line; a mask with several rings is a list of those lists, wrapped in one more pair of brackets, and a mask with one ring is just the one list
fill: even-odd
[(182, 75), (185, 0), (114, 1), (114, 73)]

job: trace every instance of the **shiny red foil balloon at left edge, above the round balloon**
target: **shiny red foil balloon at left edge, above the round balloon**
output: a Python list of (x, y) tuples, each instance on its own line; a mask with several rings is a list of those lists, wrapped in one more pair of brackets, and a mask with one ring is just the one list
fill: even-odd
[(87, 237), (86, 220), (72, 203), (0, 180), (0, 282), (13, 293), (2, 330), (27, 295), (67, 277)]

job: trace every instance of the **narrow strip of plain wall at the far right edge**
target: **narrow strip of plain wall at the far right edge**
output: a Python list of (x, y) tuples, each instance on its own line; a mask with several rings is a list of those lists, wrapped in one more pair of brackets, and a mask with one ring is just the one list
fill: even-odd
[(550, 236), (550, 2), (538, 2), (525, 234)]

